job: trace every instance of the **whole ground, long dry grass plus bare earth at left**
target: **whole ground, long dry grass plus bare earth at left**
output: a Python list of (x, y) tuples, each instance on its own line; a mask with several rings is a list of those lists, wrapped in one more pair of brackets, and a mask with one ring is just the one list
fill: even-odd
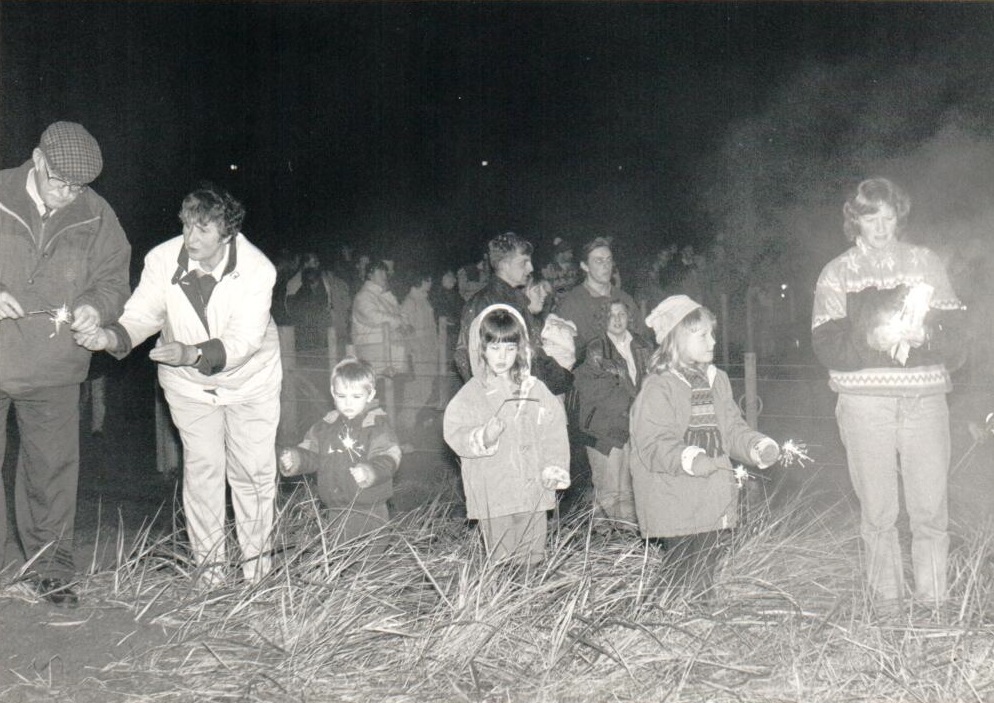
[(149, 438), (87, 440), (83, 605), (0, 573), (0, 700), (994, 701), (994, 447), (967, 456), (960, 421), (978, 408), (953, 424), (950, 601), (888, 612), (863, 588), (834, 426), (800, 412), (761, 429), (815, 463), (752, 482), (711, 589), (703, 560), (600, 534), (577, 495), (541, 567), (491, 563), (436, 446), (408, 455), (385, 551), (343, 543), (287, 485), (278, 568), (201, 591), (175, 484), (129, 465), (154, 460)]

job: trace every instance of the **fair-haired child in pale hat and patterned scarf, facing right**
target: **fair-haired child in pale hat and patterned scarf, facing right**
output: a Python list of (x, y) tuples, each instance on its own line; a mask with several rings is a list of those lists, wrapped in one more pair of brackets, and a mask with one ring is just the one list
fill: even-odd
[(630, 468), (643, 537), (702, 557), (711, 586), (720, 531), (735, 527), (739, 487), (731, 459), (766, 468), (780, 456), (751, 429), (714, 358), (714, 314), (673, 295), (646, 318), (659, 348), (631, 410)]

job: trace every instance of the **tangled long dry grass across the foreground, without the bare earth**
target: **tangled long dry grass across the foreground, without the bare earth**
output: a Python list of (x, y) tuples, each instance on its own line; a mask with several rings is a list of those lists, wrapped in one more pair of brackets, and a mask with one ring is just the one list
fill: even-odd
[(85, 596), (169, 641), (100, 685), (161, 701), (994, 700), (994, 528), (953, 551), (948, 608), (881, 618), (849, 508), (816, 504), (754, 511), (704, 595), (686, 585), (695, 564), (594, 534), (585, 514), (526, 570), (491, 563), (444, 505), (394, 521), (377, 553), (373, 538), (343, 543), (298, 492), (279, 568), (209, 592), (178, 539), (145, 530)]

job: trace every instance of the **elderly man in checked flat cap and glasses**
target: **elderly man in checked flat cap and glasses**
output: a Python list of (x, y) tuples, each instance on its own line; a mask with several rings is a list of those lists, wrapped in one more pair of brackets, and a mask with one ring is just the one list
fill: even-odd
[[(0, 171), (0, 457), (14, 406), (20, 453), (17, 532), (38, 593), (75, 606), (73, 524), (79, 478), (79, 389), (92, 333), (121, 314), (131, 247), (117, 215), (89, 184), (100, 146), (75, 122), (55, 122), (31, 158)], [(7, 505), (0, 490), (0, 559)]]

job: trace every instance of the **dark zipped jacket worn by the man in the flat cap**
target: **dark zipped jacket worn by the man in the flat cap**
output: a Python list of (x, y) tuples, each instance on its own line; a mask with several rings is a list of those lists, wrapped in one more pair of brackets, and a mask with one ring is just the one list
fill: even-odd
[[(121, 314), (131, 290), (131, 246), (107, 201), (87, 188), (43, 221), (26, 184), (27, 161), (0, 171), (0, 291), (24, 312), (70, 312), (91, 305), (101, 324)], [(90, 352), (66, 324), (44, 313), (0, 321), (0, 390), (18, 392), (82, 383)]]

